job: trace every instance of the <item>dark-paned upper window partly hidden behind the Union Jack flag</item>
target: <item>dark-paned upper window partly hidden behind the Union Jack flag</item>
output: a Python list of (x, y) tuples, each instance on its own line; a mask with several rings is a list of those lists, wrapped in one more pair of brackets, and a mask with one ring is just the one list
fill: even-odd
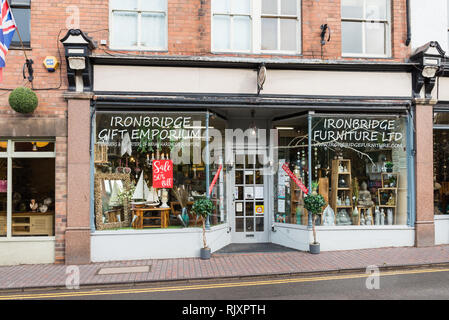
[[(14, 32), (11, 41), (11, 48), (30, 47), (31, 37), (31, 0), (10, 0), (11, 11), (19, 32)], [(20, 38), (19, 38), (20, 33)], [(20, 43), (22, 39), (22, 43)]]

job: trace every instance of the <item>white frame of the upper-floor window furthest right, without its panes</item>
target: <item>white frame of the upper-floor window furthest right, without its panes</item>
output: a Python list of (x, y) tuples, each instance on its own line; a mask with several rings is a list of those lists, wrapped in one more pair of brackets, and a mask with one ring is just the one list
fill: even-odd
[[(359, 18), (344, 18), (341, 14), (342, 12), (342, 4), (340, 4), (340, 15), (341, 15), (341, 22), (340, 26), (343, 24), (343, 22), (357, 22), (362, 24), (362, 50), (363, 53), (351, 53), (351, 52), (343, 52), (343, 33), (342, 33), (342, 42), (341, 42), (341, 56), (344, 58), (391, 58), (391, 28), (392, 28), (392, 21), (391, 21), (391, 11), (392, 11), (392, 2), (391, 0), (385, 0), (386, 1), (386, 17), (385, 19), (359, 19)], [(363, 0), (363, 16), (366, 14), (366, 0)], [(374, 54), (374, 53), (366, 53), (366, 34), (365, 34), (365, 26), (367, 23), (382, 23), (384, 25), (384, 54)]]

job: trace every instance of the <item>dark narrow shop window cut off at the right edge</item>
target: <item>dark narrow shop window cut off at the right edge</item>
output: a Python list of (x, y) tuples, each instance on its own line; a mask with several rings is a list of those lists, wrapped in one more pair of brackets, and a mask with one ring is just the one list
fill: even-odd
[(449, 214), (449, 112), (433, 117), (434, 213)]

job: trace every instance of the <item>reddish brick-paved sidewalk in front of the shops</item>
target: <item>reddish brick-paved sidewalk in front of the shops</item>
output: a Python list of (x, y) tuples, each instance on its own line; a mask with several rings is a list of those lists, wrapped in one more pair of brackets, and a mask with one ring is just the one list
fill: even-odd
[[(80, 285), (140, 283), (166, 280), (210, 279), (261, 275), (331, 272), (347, 269), (405, 267), (449, 263), (449, 245), (427, 248), (382, 248), (350, 251), (216, 254), (199, 258), (119, 261), (80, 265)], [(102, 268), (151, 266), (149, 272), (99, 275)], [(0, 267), (0, 289), (65, 287), (66, 265)]]

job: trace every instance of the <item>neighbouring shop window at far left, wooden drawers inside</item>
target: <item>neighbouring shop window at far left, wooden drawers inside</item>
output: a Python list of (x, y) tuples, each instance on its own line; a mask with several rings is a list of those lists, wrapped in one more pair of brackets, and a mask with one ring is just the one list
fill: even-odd
[(9, 227), (13, 237), (54, 236), (54, 142), (8, 140), (0, 148), (0, 235)]

